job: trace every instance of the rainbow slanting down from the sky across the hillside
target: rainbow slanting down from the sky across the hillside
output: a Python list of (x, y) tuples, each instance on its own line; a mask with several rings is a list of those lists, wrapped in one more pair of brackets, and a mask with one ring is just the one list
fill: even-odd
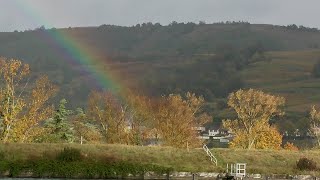
[[(32, 19), (34, 23), (44, 25), (45, 27), (52, 27), (52, 25), (44, 19), (37, 10), (30, 6), (28, 1), (12, 1), (19, 10)], [(108, 70), (106, 63), (99, 57), (99, 52), (85, 44), (80, 42), (75, 37), (67, 34), (63, 30), (46, 30), (43, 33), (44, 38), (50, 40), (55, 44), (59, 51), (64, 51), (70, 59), (69, 63), (76, 63), (80, 65), (83, 70), (94, 78), (96, 84), (100, 88), (113, 93), (124, 91), (125, 87), (122, 86), (117, 77)]]

